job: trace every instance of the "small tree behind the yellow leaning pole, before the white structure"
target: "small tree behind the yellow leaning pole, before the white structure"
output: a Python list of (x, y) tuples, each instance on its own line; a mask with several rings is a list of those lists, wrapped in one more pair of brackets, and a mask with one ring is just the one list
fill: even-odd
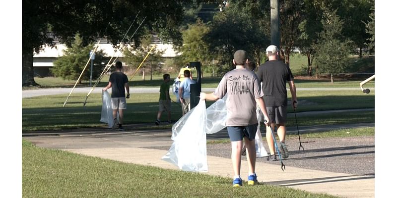
[[(151, 45), (152, 43), (152, 38), (153, 35), (150, 32), (146, 32), (146, 36), (143, 37), (141, 40), (141, 45), (139, 47), (130, 47), (130, 48), (125, 48), (123, 50), (124, 54), (124, 61), (131, 67), (137, 68), (140, 63), (142, 63), (143, 59), (146, 57), (147, 53), (150, 51), (150, 49), (153, 47)], [(142, 68), (143, 68), (143, 80), (145, 77), (145, 68), (148, 67), (150, 68), (150, 80), (152, 80), (153, 77), (153, 64), (157, 65), (158, 62), (161, 60), (161, 55), (164, 52), (161, 50), (158, 50), (156, 46), (154, 46), (154, 49), (150, 52), (150, 54), (147, 56), (146, 60), (142, 63)]]

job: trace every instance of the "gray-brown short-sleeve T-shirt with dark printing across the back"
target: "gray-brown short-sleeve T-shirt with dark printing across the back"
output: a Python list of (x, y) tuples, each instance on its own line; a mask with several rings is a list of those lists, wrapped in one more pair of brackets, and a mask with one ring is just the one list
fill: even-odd
[(257, 102), (264, 96), (257, 75), (247, 69), (234, 69), (226, 73), (214, 95), (226, 99), (226, 126), (257, 124)]

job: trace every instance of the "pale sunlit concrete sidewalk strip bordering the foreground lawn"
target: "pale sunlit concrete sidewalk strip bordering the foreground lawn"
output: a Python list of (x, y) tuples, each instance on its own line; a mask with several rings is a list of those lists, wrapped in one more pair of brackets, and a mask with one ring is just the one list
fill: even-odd
[[(147, 148), (82, 148), (65, 149), (70, 152), (96, 156), (117, 161), (156, 166), (166, 169), (178, 167), (161, 160), (166, 150)], [(207, 156), (208, 172), (205, 174), (233, 177), (231, 160), (223, 157)], [(326, 193), (345, 198), (374, 198), (375, 178), (369, 176), (349, 175), (327, 171), (310, 170), (296, 167), (257, 162), (258, 181), (266, 185), (289, 187), (311, 193)], [(247, 163), (242, 161), (241, 170), (247, 170)], [(243, 180), (246, 180), (243, 177)]]

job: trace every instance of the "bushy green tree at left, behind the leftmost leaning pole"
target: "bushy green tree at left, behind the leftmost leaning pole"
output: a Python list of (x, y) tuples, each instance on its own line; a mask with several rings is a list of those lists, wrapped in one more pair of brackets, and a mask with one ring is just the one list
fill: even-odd
[[(64, 55), (54, 61), (54, 67), (51, 68), (51, 72), (56, 77), (62, 77), (67, 80), (77, 80), (80, 76), (81, 72), (84, 69), (85, 64), (88, 61), (89, 53), (93, 49), (93, 44), (90, 44), (86, 47), (81, 46), (81, 38), (79, 36), (75, 37), (75, 41), (72, 44), (71, 48), (66, 49)], [(97, 79), (99, 75), (102, 73), (104, 64), (103, 62), (107, 62), (108, 58), (104, 57), (103, 50), (96, 51), (95, 59), (93, 64), (92, 71), (92, 79)], [(106, 64), (106, 63), (105, 63)], [(86, 67), (86, 72), (80, 78), (81, 80), (89, 80), (90, 73), (89, 64)]]

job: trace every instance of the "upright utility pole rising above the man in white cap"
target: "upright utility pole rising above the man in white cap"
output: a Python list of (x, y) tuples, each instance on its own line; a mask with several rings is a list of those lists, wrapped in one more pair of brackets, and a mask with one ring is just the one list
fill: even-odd
[(270, 0), (270, 45), (280, 49), (280, 15), (278, 0)]

